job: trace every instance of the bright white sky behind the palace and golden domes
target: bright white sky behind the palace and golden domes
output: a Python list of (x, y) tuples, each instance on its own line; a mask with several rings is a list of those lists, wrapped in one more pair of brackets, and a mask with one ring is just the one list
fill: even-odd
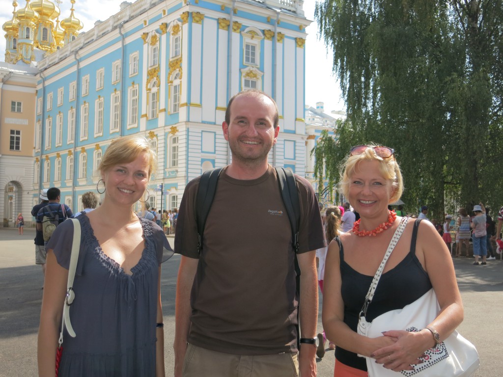
[[(0, 8), (0, 23), (3, 25), (12, 19), (13, 7), (8, 6), (9, 0), (2, 1), (4, 6)], [(121, 3), (122, 0), (76, 0), (74, 14), (84, 25), (82, 31), (88, 31), (94, 27), (98, 19), (105, 21), (118, 13)], [(18, 0), (18, 10), (25, 6), (26, 0)], [(304, 0), (304, 15), (308, 20), (314, 20), (314, 6), (315, 0)], [(63, 0), (59, 8), (61, 9), (60, 20), (70, 15), (69, 0)], [(323, 102), (326, 113), (332, 110), (345, 110), (339, 81), (332, 75), (332, 52), (330, 50), (327, 53), (324, 43), (318, 40), (318, 26), (315, 22), (306, 28), (306, 32), (308, 33), (305, 45), (306, 105), (315, 107), (316, 102)], [(0, 37), (1, 61), (5, 61), (5, 42), (4, 33), (2, 33)]]

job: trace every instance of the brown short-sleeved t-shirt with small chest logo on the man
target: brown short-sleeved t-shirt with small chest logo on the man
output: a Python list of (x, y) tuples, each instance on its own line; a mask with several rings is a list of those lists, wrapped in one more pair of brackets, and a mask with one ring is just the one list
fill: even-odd
[[(297, 352), (297, 310), (292, 230), (276, 171), (238, 180), (225, 170), (197, 251), (196, 194), (187, 185), (178, 215), (175, 252), (200, 258), (191, 293), (189, 342), (246, 355)], [(301, 208), (299, 253), (324, 245), (318, 202), (310, 183), (296, 176)]]

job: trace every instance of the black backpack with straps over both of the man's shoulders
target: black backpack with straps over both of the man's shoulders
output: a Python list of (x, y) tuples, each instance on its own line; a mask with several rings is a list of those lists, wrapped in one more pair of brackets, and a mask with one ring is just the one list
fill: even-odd
[[(213, 198), (215, 197), (215, 192), (217, 189), (218, 176), (222, 172), (222, 167), (205, 171), (201, 175), (201, 180), (199, 182), (199, 187), (197, 190), (196, 198), (196, 222), (197, 222), (197, 236), (198, 243), (197, 249), (201, 253), (203, 249), (203, 232), (204, 226), (206, 224), (206, 219), (211, 209), (213, 203)], [(283, 204), (285, 205), (286, 212), (288, 214), (288, 219), (290, 220), (290, 226), (292, 228), (292, 242), (293, 249), (295, 251), (295, 282), (297, 295), (300, 299), (300, 267), (297, 260), (297, 253), (299, 252), (299, 227), (300, 227), (300, 204), (299, 204), (299, 193), (297, 191), (297, 184), (295, 182), (295, 177), (290, 170), (286, 170), (282, 167), (275, 167), (276, 174), (278, 175), (279, 190), (281, 191), (281, 197), (283, 198)], [(297, 309), (297, 317), (299, 315), (299, 309)], [(297, 345), (299, 344), (300, 332), (299, 326), (297, 325)]]

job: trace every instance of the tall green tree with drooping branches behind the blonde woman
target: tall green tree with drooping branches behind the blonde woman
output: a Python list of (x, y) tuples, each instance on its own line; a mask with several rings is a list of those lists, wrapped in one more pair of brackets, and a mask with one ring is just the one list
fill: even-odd
[(348, 118), (313, 150), (316, 177), (333, 186), (350, 147), (375, 142), (396, 151), (409, 211), (503, 205), (502, 2), (317, 3)]

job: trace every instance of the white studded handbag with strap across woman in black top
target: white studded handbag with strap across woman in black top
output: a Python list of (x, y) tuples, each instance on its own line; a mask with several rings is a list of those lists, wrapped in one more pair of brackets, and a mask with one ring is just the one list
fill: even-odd
[[(398, 231), (399, 229), (397, 229), (393, 238), (397, 235)], [(400, 235), (398, 235), (398, 238)], [(394, 244), (396, 245), (396, 242)], [(391, 251), (393, 248), (394, 245)], [(411, 332), (421, 331), (437, 317), (440, 311), (437, 295), (432, 288), (423, 296), (402, 309), (383, 313), (370, 323), (365, 320), (366, 310), (372, 301), (375, 288), (377, 287), (382, 270), (384, 269), (384, 265), (391, 251), (388, 247), (388, 251), (372, 280), (372, 285), (369, 289), (369, 293), (367, 293), (364, 308), (360, 314), (357, 332), (369, 338), (382, 336), (383, 331), (395, 329), (404, 329)], [(425, 377), (468, 377), (472, 375), (480, 364), (475, 346), (463, 338), (457, 331), (453, 331), (453, 333), (438, 346), (427, 350), (425, 355), (426, 356), (422, 358), (423, 363), (414, 364), (414, 370), (402, 370), (399, 373), (406, 377), (415, 375)], [(366, 358), (367, 370), (370, 377), (398, 376), (398, 372), (386, 369), (381, 364), (377, 364), (374, 358), (362, 357)]]

